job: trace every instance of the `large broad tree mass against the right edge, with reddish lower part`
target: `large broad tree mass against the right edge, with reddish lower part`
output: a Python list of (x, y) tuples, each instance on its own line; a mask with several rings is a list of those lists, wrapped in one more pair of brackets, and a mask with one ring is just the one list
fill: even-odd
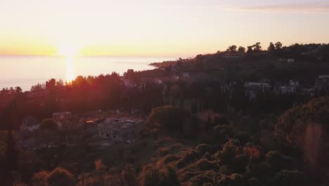
[(329, 97), (312, 99), (308, 104), (289, 109), (278, 119), (276, 130), (292, 147), (303, 151), (304, 161), (311, 171), (323, 171), (327, 153)]

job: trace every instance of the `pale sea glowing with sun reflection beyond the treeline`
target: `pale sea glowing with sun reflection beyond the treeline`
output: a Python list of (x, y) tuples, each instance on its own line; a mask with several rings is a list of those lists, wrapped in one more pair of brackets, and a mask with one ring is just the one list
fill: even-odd
[(150, 70), (153, 62), (175, 60), (175, 57), (127, 56), (0, 56), (0, 88), (21, 87), (30, 90), (32, 85), (51, 78), (72, 80), (78, 75), (100, 75), (112, 72), (123, 75), (128, 69)]

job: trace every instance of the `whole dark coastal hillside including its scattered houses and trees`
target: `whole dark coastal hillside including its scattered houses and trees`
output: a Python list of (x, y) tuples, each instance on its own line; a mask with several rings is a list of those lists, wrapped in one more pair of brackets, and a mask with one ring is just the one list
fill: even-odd
[[(185, 185), (295, 178), (300, 185), (311, 176), (307, 166), (327, 179), (327, 164), (309, 152), (328, 149), (327, 45), (276, 44), (229, 46), (122, 75), (50, 79), (29, 91), (4, 88), (0, 127), (9, 145), (2, 140), (0, 149), (18, 149), (25, 182), (65, 168), (79, 185), (102, 185), (126, 179), (127, 166), (143, 183), (154, 170), (172, 170), (161, 176)], [(322, 140), (304, 140), (315, 136)]]

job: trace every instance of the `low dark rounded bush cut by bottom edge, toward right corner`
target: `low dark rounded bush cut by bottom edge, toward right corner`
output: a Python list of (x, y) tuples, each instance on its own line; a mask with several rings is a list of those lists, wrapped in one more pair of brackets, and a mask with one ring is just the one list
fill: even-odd
[(304, 174), (299, 171), (282, 170), (274, 176), (274, 183), (281, 186), (302, 186)]

